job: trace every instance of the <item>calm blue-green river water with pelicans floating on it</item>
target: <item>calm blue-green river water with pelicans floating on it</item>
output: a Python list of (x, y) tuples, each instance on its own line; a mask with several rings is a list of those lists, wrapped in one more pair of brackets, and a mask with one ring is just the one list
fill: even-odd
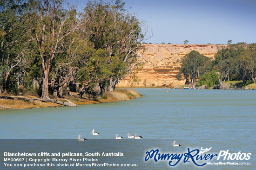
[[(13, 139), (30, 139), (27, 141), (76, 139), (81, 134), (82, 138), (88, 139), (87, 144), (94, 141), (91, 142), (91, 146), (98, 146), (99, 151), (102, 143), (106, 144), (106, 141), (112, 141), (107, 142), (111, 143), (108, 149), (112, 151), (129, 145), (132, 152), (128, 148), (120, 150), (124, 155), (129, 155), (125, 159), (132, 159), (133, 153), (138, 152), (139, 155), (134, 156), (139, 157), (136, 158), (136, 160), (139, 159), (137, 169), (171, 168), (168, 161), (162, 160), (155, 163), (151, 159), (147, 162), (144, 160), (146, 151), (153, 148), (165, 153), (186, 153), (188, 148), (200, 150), (201, 147), (203, 149), (212, 147), (210, 154), (219, 155), (220, 151), (229, 150), (231, 154), (236, 153), (232, 155), (234, 157), (239, 151), (241, 154), (251, 153), (251, 155), (249, 160), (245, 160), (246, 157), (243, 157), (243, 154), (240, 160), (238, 158), (224, 160), (224, 157), (216, 160), (215, 157), (214, 161), (209, 161), (249, 164), (205, 165), (207, 166), (205, 169), (256, 169), (256, 90), (166, 88), (135, 90), (146, 95), (130, 101), (79, 107), (1, 110), (0, 139), (12, 139), (11, 141)], [(93, 129), (100, 135), (91, 135)], [(137, 133), (143, 139), (127, 139), (128, 132), (132, 135)], [(117, 142), (115, 140), (117, 133), (125, 140)], [(2, 143), (9, 141), (2, 140)], [(27, 141), (25, 140), (25, 143)], [(69, 144), (73, 140), (66, 141)], [(173, 141), (182, 146), (171, 146)], [(91, 151), (93, 152), (94, 149), (91, 148)], [(191, 162), (183, 163), (182, 158), (175, 168), (198, 168)]]

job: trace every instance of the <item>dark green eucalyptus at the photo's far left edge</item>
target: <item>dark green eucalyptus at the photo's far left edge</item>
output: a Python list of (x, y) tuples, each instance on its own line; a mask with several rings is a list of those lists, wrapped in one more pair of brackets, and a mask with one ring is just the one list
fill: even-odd
[(31, 2), (4, 0), (0, 2), (0, 94), (17, 90), (27, 76), (27, 11)]

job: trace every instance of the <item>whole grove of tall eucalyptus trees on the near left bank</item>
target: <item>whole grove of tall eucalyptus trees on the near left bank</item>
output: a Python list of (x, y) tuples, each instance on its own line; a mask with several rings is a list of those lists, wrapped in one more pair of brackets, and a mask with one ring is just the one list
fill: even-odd
[(121, 0), (89, 0), (83, 11), (64, 0), (0, 2), (0, 94), (19, 86), (50, 94), (99, 95), (131, 74), (148, 29)]

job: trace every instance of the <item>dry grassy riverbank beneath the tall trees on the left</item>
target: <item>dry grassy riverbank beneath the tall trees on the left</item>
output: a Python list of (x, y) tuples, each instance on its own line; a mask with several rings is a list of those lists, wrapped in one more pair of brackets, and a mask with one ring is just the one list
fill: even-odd
[[(76, 93), (73, 96), (64, 96), (63, 98), (51, 98), (57, 101), (66, 102), (71, 101), (75, 105), (95, 104), (104, 102), (115, 102), (115, 101), (128, 101), (142, 97), (141, 94), (137, 93), (133, 89), (116, 89), (114, 92), (109, 92), (103, 96), (91, 97), (91, 98), (79, 98)], [(3, 97), (2, 97), (3, 98)], [(5, 99), (0, 99), (0, 110), (1, 109), (30, 109), (40, 107), (61, 107), (63, 105), (54, 102), (44, 102), (37, 100), (34, 95), (27, 96), (6, 96)], [(66, 99), (66, 100), (65, 100)]]

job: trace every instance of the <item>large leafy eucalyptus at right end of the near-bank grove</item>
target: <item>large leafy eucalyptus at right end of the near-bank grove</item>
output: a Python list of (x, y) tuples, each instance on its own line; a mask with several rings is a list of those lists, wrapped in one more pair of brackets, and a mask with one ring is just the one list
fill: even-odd
[[(88, 33), (87, 44), (93, 55), (88, 64), (81, 67), (80, 82), (87, 84), (81, 94), (92, 91), (94, 85), (98, 94), (113, 91), (115, 85), (129, 73), (136, 64), (136, 50), (145, 40), (146, 31), (133, 13), (124, 8), (121, 0), (115, 3), (88, 1), (84, 9), (88, 17), (85, 32)], [(91, 85), (88, 84), (90, 82)], [(94, 91), (94, 90), (93, 90)]]

